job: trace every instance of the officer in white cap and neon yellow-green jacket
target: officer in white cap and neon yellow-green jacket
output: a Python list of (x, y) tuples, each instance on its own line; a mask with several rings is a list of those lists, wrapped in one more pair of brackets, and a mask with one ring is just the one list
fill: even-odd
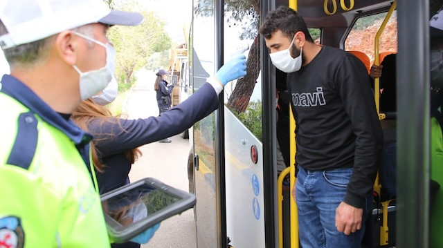
[(102, 0), (2, 0), (0, 230), (9, 247), (109, 247), (92, 136), (69, 120), (114, 74), (110, 26), (139, 13)]

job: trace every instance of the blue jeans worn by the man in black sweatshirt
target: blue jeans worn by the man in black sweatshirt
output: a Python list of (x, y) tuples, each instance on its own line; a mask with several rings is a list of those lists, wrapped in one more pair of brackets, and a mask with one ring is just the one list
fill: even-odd
[(300, 244), (303, 248), (361, 247), (364, 223), (372, 206), (372, 195), (366, 198), (360, 230), (345, 235), (335, 227), (336, 209), (345, 197), (351, 175), (352, 168), (307, 171), (298, 166), (296, 202)]

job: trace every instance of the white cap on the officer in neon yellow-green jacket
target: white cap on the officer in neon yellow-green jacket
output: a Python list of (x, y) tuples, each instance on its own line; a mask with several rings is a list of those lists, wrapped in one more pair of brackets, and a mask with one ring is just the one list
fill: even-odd
[(0, 20), (8, 30), (0, 36), (5, 50), (89, 23), (134, 26), (143, 16), (110, 10), (103, 0), (1, 0)]

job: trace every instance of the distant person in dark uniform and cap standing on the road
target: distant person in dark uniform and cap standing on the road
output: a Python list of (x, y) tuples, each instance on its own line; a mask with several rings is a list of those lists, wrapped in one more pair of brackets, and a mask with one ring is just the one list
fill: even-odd
[[(172, 104), (171, 93), (174, 89), (174, 85), (169, 84), (166, 81), (168, 72), (166, 70), (160, 69), (159, 72), (155, 74), (157, 77), (155, 79), (154, 90), (156, 91), (157, 105), (159, 106), (159, 114), (170, 109)], [(160, 143), (170, 143), (171, 140), (165, 137), (160, 140)]]

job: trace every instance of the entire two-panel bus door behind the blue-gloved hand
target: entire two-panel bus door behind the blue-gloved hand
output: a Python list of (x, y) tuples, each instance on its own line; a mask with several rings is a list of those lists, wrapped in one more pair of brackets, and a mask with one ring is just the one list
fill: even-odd
[(238, 50), (248, 57), (247, 75), (229, 82), (219, 110), (194, 126), (198, 247), (276, 247), (275, 79), (263, 80), (271, 66), (263, 66), (257, 32), (264, 2), (193, 2), (194, 90), (207, 77), (199, 75), (213, 75)]

